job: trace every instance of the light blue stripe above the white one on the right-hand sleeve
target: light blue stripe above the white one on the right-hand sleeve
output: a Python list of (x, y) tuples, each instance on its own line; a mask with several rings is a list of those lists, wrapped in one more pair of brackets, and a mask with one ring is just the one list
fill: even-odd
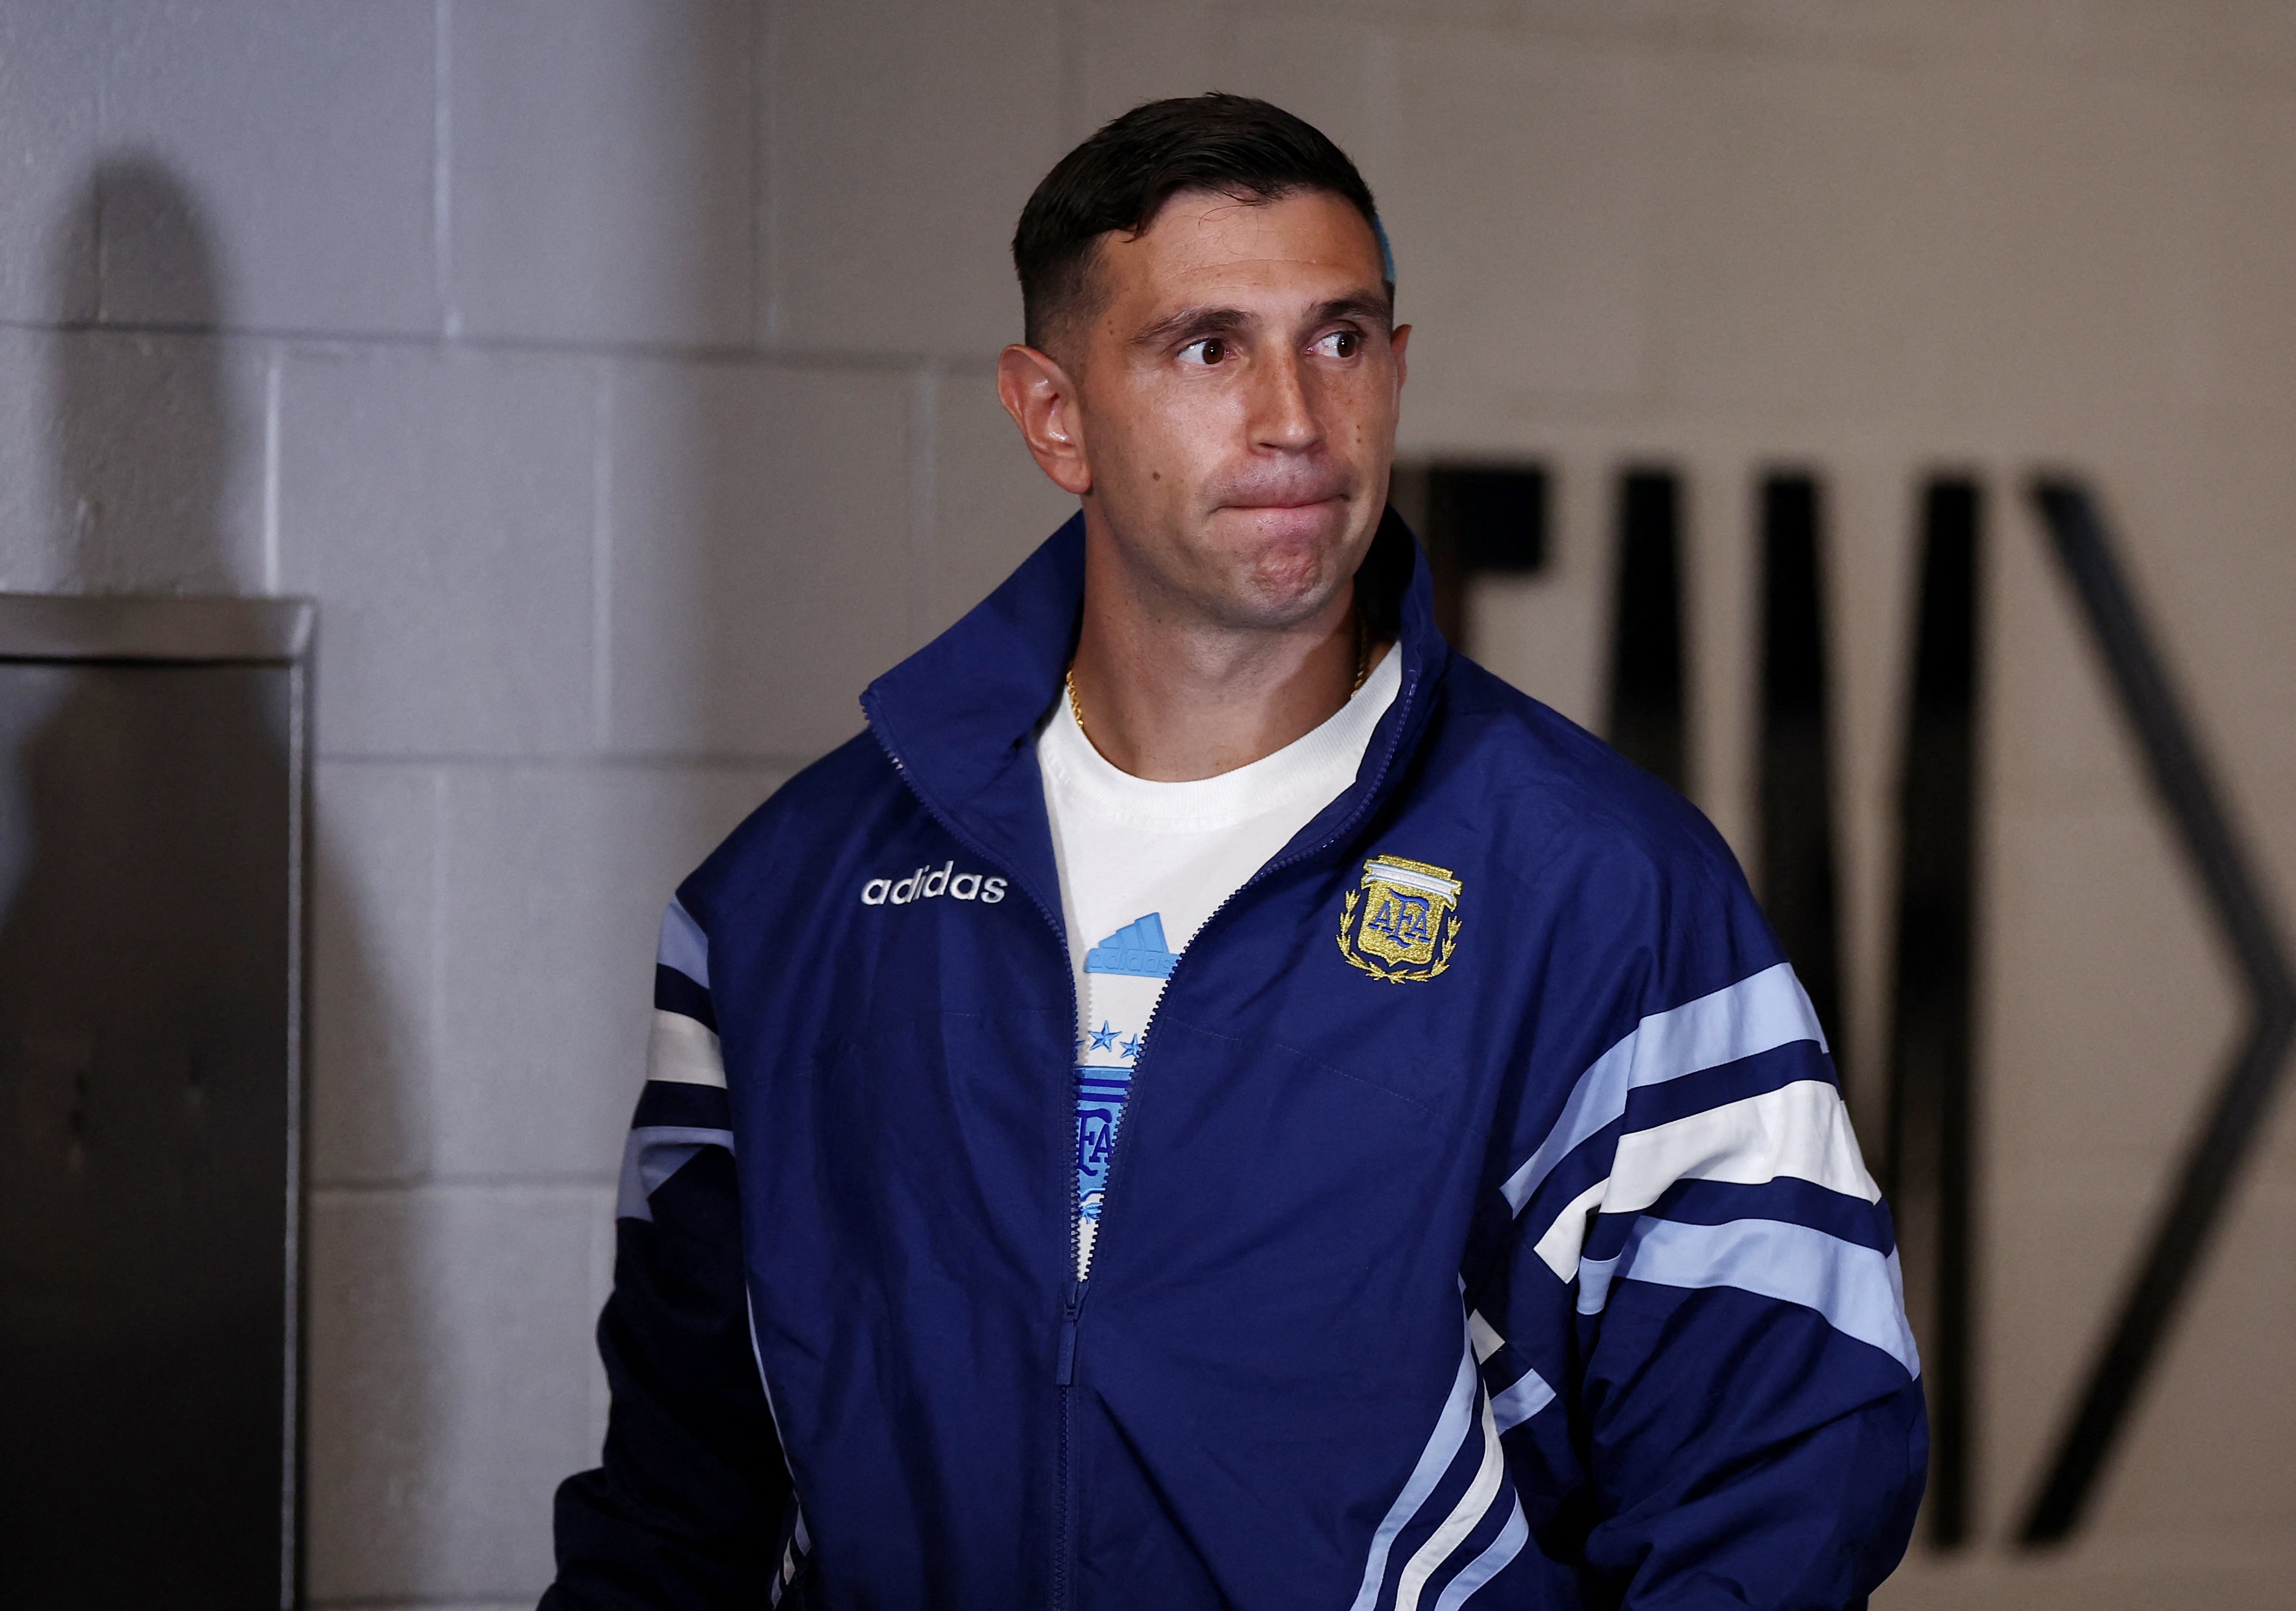
[(1802, 982), (1793, 978), (1793, 966), (1784, 962), (1711, 996), (1653, 1012), (1580, 1074), (1570, 1102), (1538, 1143), (1538, 1152), (1499, 1186), (1506, 1207), (1520, 1214), (1538, 1191), (1538, 1182), (1552, 1175), (1573, 1147), (1626, 1113), (1628, 1092), (1798, 1040), (1814, 1040), (1821, 1051), (1825, 1049), (1818, 1014), (1802, 994)]

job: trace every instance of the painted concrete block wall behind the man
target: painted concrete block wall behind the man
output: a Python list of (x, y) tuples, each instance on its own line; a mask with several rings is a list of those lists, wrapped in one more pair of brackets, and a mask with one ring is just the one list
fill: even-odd
[(2296, 890), (2296, 18), (2264, 0), (0, 0), (0, 585), (321, 604), (310, 1595), (496, 1606), (595, 1457), (654, 918), (1063, 514), (1003, 241), (1100, 119), (1359, 158), (1412, 452), (1557, 468), (1476, 652), (1593, 718), (1609, 475), (1690, 489), (1697, 794), (1752, 842), (1752, 477), (1832, 512), (1878, 1067), (1917, 477), (1991, 487), (1986, 1542), (1894, 1606), (2280, 1604), (2282, 1113), (2069, 1551), (2016, 1515), (2234, 996), (2016, 500), (2099, 475)]

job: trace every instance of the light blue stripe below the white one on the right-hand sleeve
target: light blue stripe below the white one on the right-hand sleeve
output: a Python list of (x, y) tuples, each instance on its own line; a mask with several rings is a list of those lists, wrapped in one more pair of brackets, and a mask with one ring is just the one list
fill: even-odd
[[(1876, 1253), (1784, 1219), (1733, 1219), (1722, 1225), (1644, 1219), (1621, 1258), (1626, 1281), (1649, 1281), (1660, 1287), (1738, 1287), (1814, 1308), (1835, 1331), (1871, 1342), (1903, 1365), (1906, 1375), (1922, 1375), (1922, 1354), (1906, 1324), (1896, 1253)], [(1607, 1267), (1603, 1276), (1607, 1287)], [(1587, 1264), (1580, 1264), (1580, 1281), (1584, 1278)], [(1591, 1313), (1584, 1285), (1580, 1310)]]

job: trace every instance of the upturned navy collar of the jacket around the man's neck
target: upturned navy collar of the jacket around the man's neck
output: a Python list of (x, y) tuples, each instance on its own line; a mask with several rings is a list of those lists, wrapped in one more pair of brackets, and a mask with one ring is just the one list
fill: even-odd
[[(1357, 587), (1373, 629), (1396, 640), (1403, 686), (1371, 734), (1355, 785), (1318, 812), (1286, 854), (1339, 838), (1394, 787), (1451, 659), (1435, 631), (1426, 555), (1391, 507), (1371, 539)], [(1013, 874), (1054, 927), (1061, 879), (1035, 769), (1035, 727), (1061, 698), (1081, 613), (1079, 512), (964, 620), (861, 695), (870, 730), (925, 808), (960, 842)]]

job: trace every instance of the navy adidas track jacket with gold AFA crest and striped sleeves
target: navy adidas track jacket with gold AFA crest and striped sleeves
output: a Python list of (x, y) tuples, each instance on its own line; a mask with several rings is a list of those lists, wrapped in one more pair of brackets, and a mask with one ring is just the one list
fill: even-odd
[(677, 890), (546, 1611), (1862, 1604), (1926, 1425), (1825, 1037), (1394, 514), (1401, 693), (1171, 973), (1077, 1285), (1081, 587), (1079, 516)]

